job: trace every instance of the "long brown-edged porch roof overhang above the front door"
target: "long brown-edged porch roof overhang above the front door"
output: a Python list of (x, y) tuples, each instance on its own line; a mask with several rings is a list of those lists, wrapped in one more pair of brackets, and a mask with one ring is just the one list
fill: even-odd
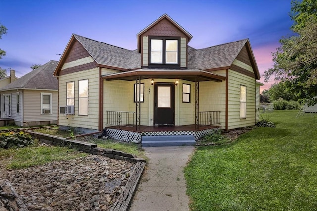
[(213, 74), (204, 70), (174, 70), (174, 69), (139, 69), (122, 73), (114, 73), (102, 76), (105, 80), (128, 80), (133, 81), (136, 77), (141, 79), (163, 78), (183, 79), (188, 81), (215, 81), (221, 82), (226, 77)]

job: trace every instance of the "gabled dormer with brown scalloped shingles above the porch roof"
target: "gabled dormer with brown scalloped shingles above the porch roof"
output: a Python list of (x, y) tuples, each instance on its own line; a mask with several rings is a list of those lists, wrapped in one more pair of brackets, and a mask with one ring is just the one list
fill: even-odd
[(187, 68), (187, 44), (193, 36), (162, 15), (137, 34), (142, 68)]

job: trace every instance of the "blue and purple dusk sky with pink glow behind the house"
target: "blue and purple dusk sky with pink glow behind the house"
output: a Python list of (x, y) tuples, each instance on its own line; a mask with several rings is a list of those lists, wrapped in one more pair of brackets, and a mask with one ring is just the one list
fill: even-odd
[(166, 13), (193, 35), (189, 45), (196, 49), (249, 38), (262, 75), (279, 39), (292, 33), (290, 9), (290, 0), (0, 0), (8, 29), (0, 67), (21, 77), (33, 64), (58, 61), (72, 33), (134, 50), (137, 33)]

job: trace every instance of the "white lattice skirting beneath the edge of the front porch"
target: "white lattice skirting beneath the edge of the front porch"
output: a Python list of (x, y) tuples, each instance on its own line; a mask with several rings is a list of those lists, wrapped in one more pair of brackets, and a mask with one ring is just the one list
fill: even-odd
[(141, 143), (141, 136), (157, 136), (157, 135), (194, 135), (195, 140), (209, 134), (212, 130), (220, 130), (221, 127), (204, 129), (200, 131), (156, 131), (156, 132), (135, 132), (120, 129), (107, 128), (109, 138), (118, 141)]

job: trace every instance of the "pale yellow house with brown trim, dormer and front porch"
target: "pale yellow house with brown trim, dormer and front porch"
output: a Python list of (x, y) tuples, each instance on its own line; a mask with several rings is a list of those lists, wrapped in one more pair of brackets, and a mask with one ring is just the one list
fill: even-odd
[(260, 74), (249, 40), (194, 49), (191, 39), (167, 14), (137, 34), (133, 51), (73, 34), (54, 71), (59, 127), (106, 127), (145, 146), (255, 125)]

